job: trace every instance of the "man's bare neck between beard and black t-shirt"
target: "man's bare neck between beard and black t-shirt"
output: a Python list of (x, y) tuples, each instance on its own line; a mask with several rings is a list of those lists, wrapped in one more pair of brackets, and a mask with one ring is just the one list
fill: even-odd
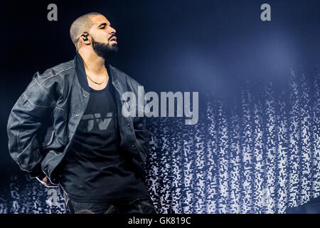
[(95, 75), (105, 74), (105, 58), (98, 56), (94, 51), (92, 52), (79, 52), (85, 71), (93, 73)]

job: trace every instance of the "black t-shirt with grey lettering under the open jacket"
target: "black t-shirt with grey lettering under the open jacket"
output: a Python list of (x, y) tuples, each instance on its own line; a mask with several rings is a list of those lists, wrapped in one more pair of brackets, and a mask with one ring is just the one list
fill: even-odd
[(73, 145), (63, 161), (60, 186), (78, 202), (149, 197), (144, 182), (120, 149), (117, 106), (110, 83), (103, 90), (91, 88)]

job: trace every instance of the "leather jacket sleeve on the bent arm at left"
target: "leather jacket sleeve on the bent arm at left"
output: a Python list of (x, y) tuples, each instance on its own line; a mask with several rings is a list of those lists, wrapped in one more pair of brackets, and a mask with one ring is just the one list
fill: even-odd
[(7, 125), (11, 157), (30, 177), (39, 178), (45, 175), (41, 171), (43, 155), (38, 130), (55, 107), (55, 99), (50, 94), (53, 83), (40, 83), (41, 79), (38, 72), (33, 76), (12, 108)]

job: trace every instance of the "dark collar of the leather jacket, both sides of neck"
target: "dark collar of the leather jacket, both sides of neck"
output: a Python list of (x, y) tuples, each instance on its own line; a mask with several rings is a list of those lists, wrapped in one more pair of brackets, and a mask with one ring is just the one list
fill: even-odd
[[(107, 68), (107, 73), (109, 76), (109, 80), (111, 81), (112, 85), (114, 86), (117, 84), (118, 78), (117, 78), (117, 73), (115, 73), (112, 70), (112, 66), (110, 67), (110, 64), (105, 61), (105, 68)], [(77, 51), (77, 54), (75, 56), (75, 71), (78, 76), (78, 81), (81, 85), (81, 87), (86, 90), (88, 93), (90, 93), (90, 87), (89, 84), (87, 83), (87, 76), (85, 75), (85, 65), (83, 64), (82, 57)]]

